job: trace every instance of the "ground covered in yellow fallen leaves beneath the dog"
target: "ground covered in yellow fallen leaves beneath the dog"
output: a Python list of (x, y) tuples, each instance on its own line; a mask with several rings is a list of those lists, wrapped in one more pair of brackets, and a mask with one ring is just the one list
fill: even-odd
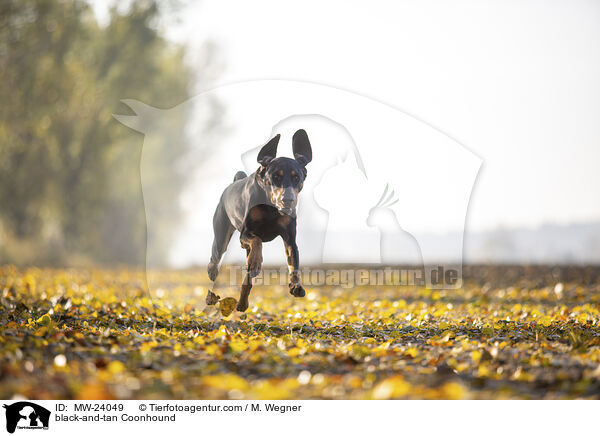
[(204, 271), (161, 273), (150, 299), (139, 271), (1, 267), (0, 397), (600, 398), (597, 269), (471, 275), (304, 299), (257, 286), (224, 318)]

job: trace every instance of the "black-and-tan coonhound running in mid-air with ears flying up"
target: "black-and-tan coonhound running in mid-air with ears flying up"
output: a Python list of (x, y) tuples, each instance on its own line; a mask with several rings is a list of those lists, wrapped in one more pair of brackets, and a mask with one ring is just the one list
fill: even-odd
[[(281, 236), (289, 268), (289, 288), (294, 297), (304, 297), (300, 282), (298, 246), (296, 245), (296, 205), (306, 179), (306, 165), (312, 160), (308, 135), (298, 130), (292, 138), (294, 159), (275, 157), (280, 135), (265, 144), (258, 153), (260, 167), (247, 176), (239, 171), (233, 183), (223, 191), (213, 217), (214, 242), (208, 264), (208, 276), (215, 282), (219, 262), (235, 230), (240, 232), (246, 250), (246, 274), (236, 309), (248, 308), (252, 278), (262, 266), (262, 244)], [(219, 297), (208, 291), (206, 303), (216, 304)]]

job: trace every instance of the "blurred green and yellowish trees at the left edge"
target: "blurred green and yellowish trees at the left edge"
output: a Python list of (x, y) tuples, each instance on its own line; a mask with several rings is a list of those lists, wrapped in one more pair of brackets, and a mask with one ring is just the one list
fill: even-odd
[[(0, 2), (0, 263), (144, 263), (143, 137), (112, 114), (123, 98), (176, 105), (199, 74), (158, 29), (160, 6), (99, 25), (82, 0)], [(152, 170), (178, 208), (188, 175), (170, 163), (189, 144), (166, 144)], [(165, 255), (176, 225), (161, 223)]]

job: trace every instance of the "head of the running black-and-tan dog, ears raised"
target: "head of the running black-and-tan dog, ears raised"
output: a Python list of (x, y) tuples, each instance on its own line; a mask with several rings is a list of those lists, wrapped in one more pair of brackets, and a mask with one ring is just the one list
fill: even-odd
[(308, 135), (301, 129), (292, 138), (294, 159), (276, 158), (279, 138), (280, 135), (275, 136), (258, 153), (260, 168), (256, 175), (259, 184), (279, 212), (294, 216), (298, 193), (306, 179), (306, 165), (312, 160), (312, 149)]

